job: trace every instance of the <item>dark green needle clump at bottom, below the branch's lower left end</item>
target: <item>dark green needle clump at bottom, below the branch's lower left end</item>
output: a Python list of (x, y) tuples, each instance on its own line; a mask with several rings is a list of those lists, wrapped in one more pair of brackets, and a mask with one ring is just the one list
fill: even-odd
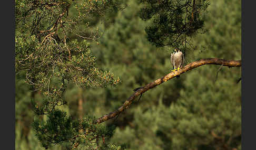
[[(95, 118), (86, 116), (83, 120), (72, 121), (71, 116), (66, 116), (66, 112), (55, 109), (47, 115), (45, 122), (36, 118), (32, 126), (38, 140), (42, 141), (42, 146), (45, 148), (61, 143), (66, 143), (66, 146), (71, 144), (74, 147), (79, 142), (80, 146), (93, 149), (97, 147), (95, 144), (97, 138), (107, 138), (113, 132), (113, 129), (106, 126), (95, 125), (93, 120)], [(110, 146), (103, 145), (104, 149)]]

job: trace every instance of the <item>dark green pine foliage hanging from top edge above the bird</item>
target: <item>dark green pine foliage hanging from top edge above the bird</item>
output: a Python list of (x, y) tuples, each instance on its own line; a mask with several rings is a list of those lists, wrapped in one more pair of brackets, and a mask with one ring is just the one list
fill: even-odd
[(141, 0), (140, 10), (143, 20), (152, 20), (145, 28), (147, 39), (156, 47), (185, 47), (191, 37), (204, 33), (205, 10), (209, 1), (147, 1)]

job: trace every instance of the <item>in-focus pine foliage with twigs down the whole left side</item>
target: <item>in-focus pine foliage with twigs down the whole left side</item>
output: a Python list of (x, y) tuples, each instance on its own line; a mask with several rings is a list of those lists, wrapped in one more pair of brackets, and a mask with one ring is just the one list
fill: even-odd
[[(23, 79), (31, 85), (30, 90), (41, 94), (41, 99), (30, 98), (33, 99), (30, 108), (37, 118), (32, 127), (45, 148), (66, 142), (71, 143), (73, 148), (92, 143), (87, 140), (87, 135), (78, 136), (80, 133), (77, 124), (73, 124), (75, 122), (82, 124), (79, 130), (90, 128), (88, 132), (92, 132), (91, 136), (96, 135), (93, 147), (100, 146), (95, 144), (100, 136), (110, 134), (107, 128), (96, 130), (96, 125), (88, 126), (89, 123), (94, 124), (92, 119), (75, 121), (58, 107), (67, 104), (64, 93), (69, 84), (105, 88), (120, 82), (110, 71), (97, 68), (90, 43), (83, 37), (86, 35), (72, 36), (82, 34), (79, 31), (81, 26), (88, 29), (89, 23), (85, 18), (103, 15), (113, 5), (117, 4), (112, 1), (16, 1), (15, 71), (17, 76), (25, 73)], [(72, 16), (68, 15), (69, 9)], [(100, 34), (96, 30), (93, 36), (96, 40)], [(81, 37), (85, 39), (81, 40)], [(41, 115), (47, 116), (46, 122)], [(105, 147), (108, 147), (107, 144), (101, 143)]]

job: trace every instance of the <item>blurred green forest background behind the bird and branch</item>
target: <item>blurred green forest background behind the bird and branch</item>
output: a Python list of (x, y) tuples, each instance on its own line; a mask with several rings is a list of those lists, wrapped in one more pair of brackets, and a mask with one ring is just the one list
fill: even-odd
[[(106, 20), (92, 18), (92, 27), (104, 31), (99, 45), (92, 44), (97, 66), (119, 76), (116, 88), (78, 89), (70, 85), (62, 109), (74, 118), (87, 114), (100, 117), (114, 111), (133, 93), (172, 69), (170, 50), (155, 48), (146, 39), (137, 0), (127, 8), (106, 14)], [(194, 59), (241, 59), (241, 1), (211, 2), (206, 14), (206, 34), (194, 37)], [(143, 94), (117, 119), (111, 142), (126, 149), (241, 149), (241, 68), (206, 65), (172, 79)], [(22, 75), (16, 76), (15, 149), (44, 149), (31, 123), (31, 92)], [(64, 149), (55, 146), (50, 149)]]

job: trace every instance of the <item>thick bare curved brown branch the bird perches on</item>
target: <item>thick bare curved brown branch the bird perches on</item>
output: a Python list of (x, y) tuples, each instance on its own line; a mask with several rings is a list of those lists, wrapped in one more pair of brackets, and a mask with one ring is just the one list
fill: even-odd
[(156, 87), (157, 85), (174, 78), (175, 76), (179, 76), (180, 74), (185, 73), (186, 71), (192, 70), (194, 68), (198, 68), (203, 65), (222, 65), (222, 66), (228, 66), (228, 67), (241, 67), (241, 60), (224, 60), (224, 59), (218, 59), (218, 58), (206, 58), (206, 59), (201, 59), (199, 61), (191, 62), (188, 65), (186, 65), (185, 67), (183, 67), (181, 70), (175, 71), (175, 72), (170, 72), (169, 74), (166, 74), (164, 77), (159, 78), (149, 84), (146, 84), (144, 87), (141, 87), (140, 89), (136, 90), (131, 95), (131, 97), (128, 98), (123, 103), (122, 106), (120, 106), (119, 109), (117, 109), (109, 114), (103, 115), (102, 117), (100, 117), (99, 119), (96, 120), (96, 123), (102, 123), (102, 122), (107, 121), (107, 120), (111, 119), (112, 117), (115, 117), (116, 115), (120, 114), (125, 109), (127, 109), (129, 105), (131, 105), (132, 101), (137, 96), (146, 92), (147, 90), (152, 89), (152, 88)]

